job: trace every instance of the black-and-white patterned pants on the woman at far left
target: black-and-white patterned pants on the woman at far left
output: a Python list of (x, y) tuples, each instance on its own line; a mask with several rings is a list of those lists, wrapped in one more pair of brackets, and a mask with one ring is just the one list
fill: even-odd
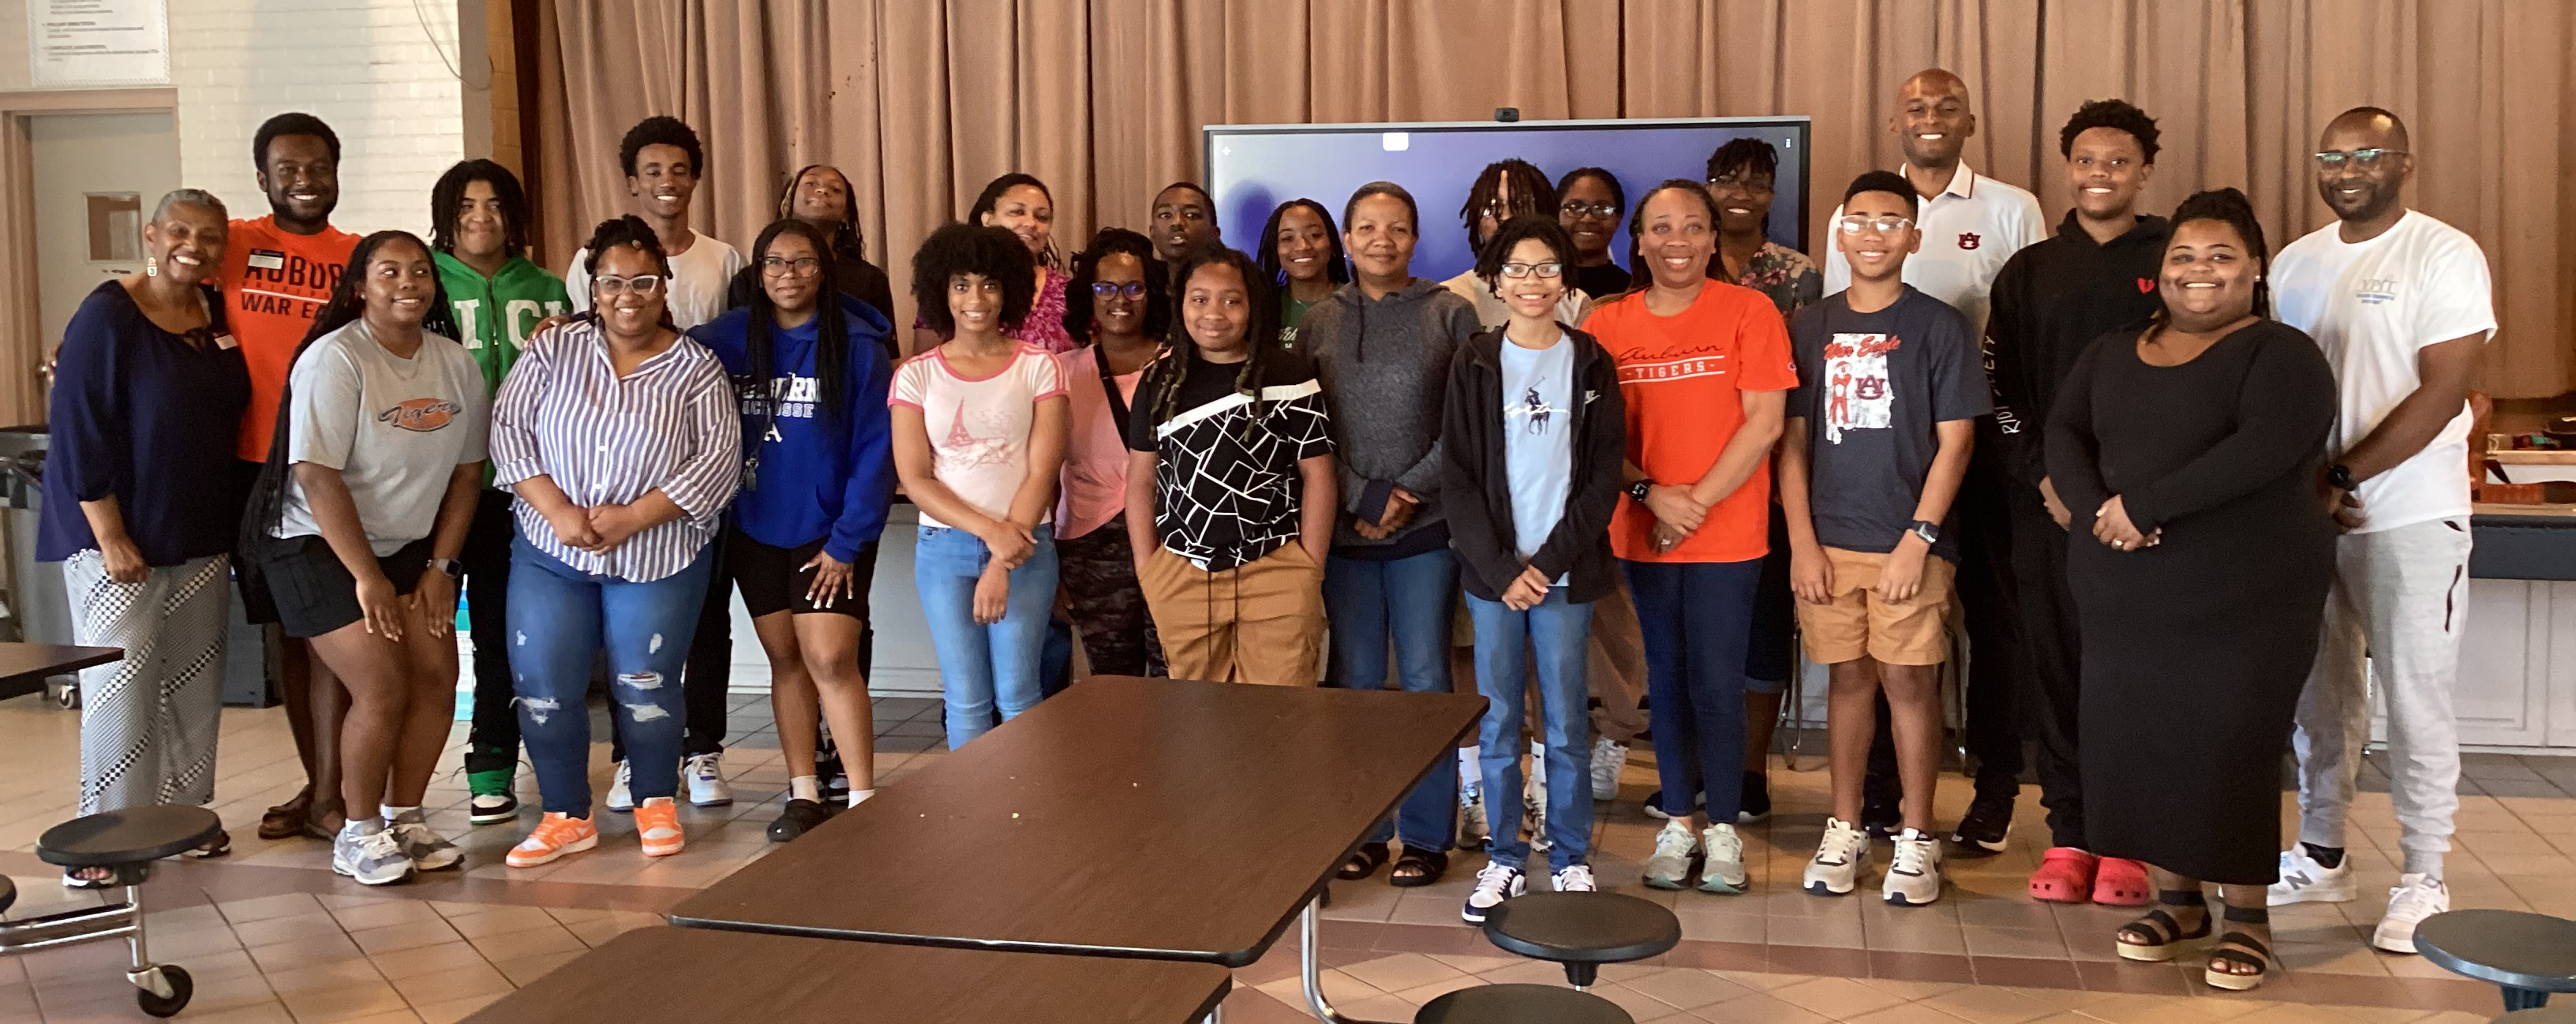
[(209, 556), (118, 584), (95, 548), (62, 563), (75, 643), (126, 651), (80, 669), (80, 813), (214, 803), (227, 566)]

